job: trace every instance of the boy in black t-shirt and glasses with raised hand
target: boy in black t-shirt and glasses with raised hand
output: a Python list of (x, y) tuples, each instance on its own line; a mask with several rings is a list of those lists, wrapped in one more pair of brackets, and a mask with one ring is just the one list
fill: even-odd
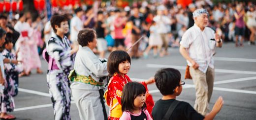
[[(176, 96), (181, 94), (182, 85), (185, 82), (181, 81), (181, 73), (173, 68), (159, 70), (155, 74), (155, 81), (163, 96), (156, 102), (152, 116), (154, 120), (162, 120), (170, 105), (176, 101)], [(180, 101), (168, 120), (213, 120), (221, 110), (223, 102), (223, 98), (220, 96), (212, 111), (204, 117), (197, 113), (188, 102)]]

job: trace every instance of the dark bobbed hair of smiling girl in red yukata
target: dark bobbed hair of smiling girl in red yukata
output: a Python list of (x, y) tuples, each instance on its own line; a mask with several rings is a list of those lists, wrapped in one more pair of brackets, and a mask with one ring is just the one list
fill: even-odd
[[(107, 71), (113, 76), (114, 73), (119, 73), (118, 66), (121, 62), (128, 60), (130, 63), (130, 56), (126, 51), (116, 50), (110, 53), (107, 60)], [(131, 64), (131, 63), (130, 63)]]

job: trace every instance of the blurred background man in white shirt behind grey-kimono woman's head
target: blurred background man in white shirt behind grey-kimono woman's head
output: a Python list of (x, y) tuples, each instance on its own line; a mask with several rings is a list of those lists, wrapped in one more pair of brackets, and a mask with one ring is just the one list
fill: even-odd
[(78, 32), (83, 29), (83, 22), (81, 20), (82, 15), (84, 14), (83, 9), (80, 7), (76, 8), (75, 14), (76, 16), (74, 16), (70, 22), (70, 39), (73, 44), (78, 45), (77, 35)]

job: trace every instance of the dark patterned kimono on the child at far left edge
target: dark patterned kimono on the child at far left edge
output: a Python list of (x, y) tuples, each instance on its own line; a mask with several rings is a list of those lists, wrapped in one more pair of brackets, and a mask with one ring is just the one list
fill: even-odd
[[(2, 51), (2, 55), (4, 58), (9, 60), (16, 59), (15, 55), (7, 50), (4, 49)], [(12, 96), (18, 95), (18, 87), (19, 87), (19, 68), (12, 63), (5, 63), (4, 64), (4, 74), (5, 79), (8, 84), (8, 91)]]

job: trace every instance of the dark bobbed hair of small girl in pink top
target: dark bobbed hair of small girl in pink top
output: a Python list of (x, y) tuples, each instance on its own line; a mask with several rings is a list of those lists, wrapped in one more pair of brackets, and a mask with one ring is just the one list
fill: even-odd
[[(146, 94), (146, 88), (141, 83), (128, 82), (123, 88), (121, 97), (122, 111), (132, 112), (134, 110), (134, 99), (141, 94)], [(145, 101), (141, 109), (144, 111), (146, 108)]]

